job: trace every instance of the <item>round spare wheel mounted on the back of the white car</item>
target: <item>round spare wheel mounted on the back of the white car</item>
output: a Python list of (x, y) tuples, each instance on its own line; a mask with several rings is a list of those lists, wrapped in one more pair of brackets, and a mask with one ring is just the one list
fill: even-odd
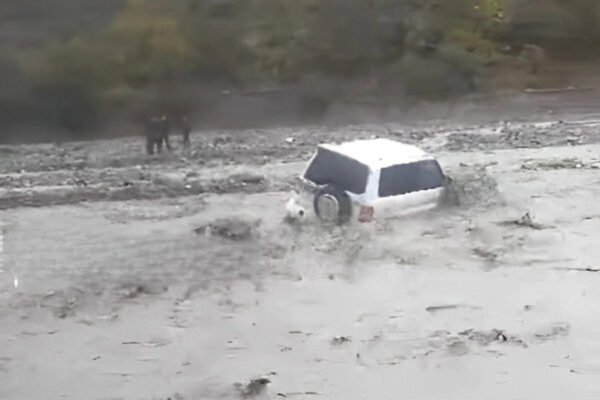
[(344, 224), (352, 215), (350, 198), (342, 189), (334, 185), (317, 189), (313, 205), (319, 219), (326, 224)]

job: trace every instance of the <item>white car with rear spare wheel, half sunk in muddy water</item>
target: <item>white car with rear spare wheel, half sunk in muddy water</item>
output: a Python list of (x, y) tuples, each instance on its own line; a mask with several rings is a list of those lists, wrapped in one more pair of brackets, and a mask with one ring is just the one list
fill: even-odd
[[(436, 207), (446, 179), (437, 160), (418, 147), (389, 139), (322, 144), (302, 174), (323, 222), (343, 224), (412, 214)], [(289, 218), (304, 217), (295, 199)]]

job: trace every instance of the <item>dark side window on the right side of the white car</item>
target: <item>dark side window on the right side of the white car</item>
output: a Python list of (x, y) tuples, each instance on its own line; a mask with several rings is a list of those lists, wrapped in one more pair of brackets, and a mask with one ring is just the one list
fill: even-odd
[(443, 185), (444, 174), (438, 162), (423, 160), (383, 168), (379, 179), (379, 196), (397, 196)]

